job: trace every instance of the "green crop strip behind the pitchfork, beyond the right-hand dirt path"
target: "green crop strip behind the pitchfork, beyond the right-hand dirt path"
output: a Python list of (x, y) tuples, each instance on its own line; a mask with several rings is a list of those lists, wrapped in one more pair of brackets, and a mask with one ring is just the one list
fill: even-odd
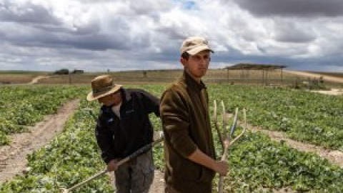
[(213, 99), (248, 109), (249, 124), (343, 152), (343, 96), (262, 86), (212, 86)]

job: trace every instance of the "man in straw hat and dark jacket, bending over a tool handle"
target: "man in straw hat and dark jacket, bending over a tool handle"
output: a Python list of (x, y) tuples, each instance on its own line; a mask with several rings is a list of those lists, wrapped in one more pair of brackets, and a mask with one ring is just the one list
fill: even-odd
[(116, 163), (153, 142), (149, 114), (159, 117), (159, 99), (141, 89), (124, 89), (111, 76), (96, 76), (87, 100), (102, 105), (95, 135), (101, 157), (109, 171), (114, 171), (117, 193), (147, 193), (154, 178), (151, 149), (122, 164)]

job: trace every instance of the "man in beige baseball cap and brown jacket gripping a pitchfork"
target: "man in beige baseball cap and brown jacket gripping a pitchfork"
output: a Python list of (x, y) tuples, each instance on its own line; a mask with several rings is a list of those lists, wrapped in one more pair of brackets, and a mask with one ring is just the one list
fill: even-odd
[(227, 174), (227, 162), (216, 160), (209, 97), (202, 81), (212, 52), (202, 37), (184, 40), (184, 74), (161, 97), (167, 193), (212, 192), (215, 172)]

